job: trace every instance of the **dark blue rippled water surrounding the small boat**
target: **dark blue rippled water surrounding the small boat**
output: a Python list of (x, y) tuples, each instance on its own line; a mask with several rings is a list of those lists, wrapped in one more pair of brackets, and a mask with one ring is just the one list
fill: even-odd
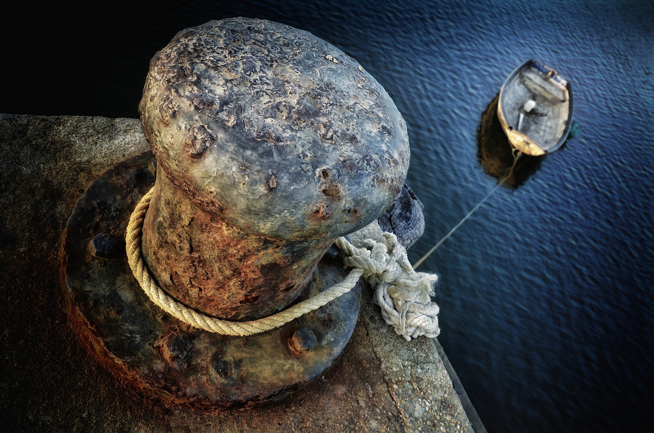
[(419, 270), (441, 277), (439, 341), (489, 432), (654, 431), (651, 0), (156, 5), (16, 16), (0, 112), (136, 118), (148, 60), (184, 27), (311, 31), (407, 122), (427, 220), (413, 262), (508, 173), (493, 110), (508, 73), (536, 58), (570, 78), (579, 135), (520, 167)]

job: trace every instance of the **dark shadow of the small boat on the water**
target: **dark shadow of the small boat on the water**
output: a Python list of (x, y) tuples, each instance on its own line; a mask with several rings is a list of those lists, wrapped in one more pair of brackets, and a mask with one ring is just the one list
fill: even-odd
[[(495, 95), (481, 114), (481, 122), (477, 128), (477, 159), (487, 175), (494, 177), (498, 182), (504, 181), (502, 186), (516, 189), (538, 171), (547, 155), (522, 154), (513, 167), (514, 152), (516, 151), (502, 130), (502, 124), (497, 115), (499, 97), (499, 93)], [(562, 147), (565, 147), (565, 144)], [(512, 167), (513, 170), (511, 170)]]

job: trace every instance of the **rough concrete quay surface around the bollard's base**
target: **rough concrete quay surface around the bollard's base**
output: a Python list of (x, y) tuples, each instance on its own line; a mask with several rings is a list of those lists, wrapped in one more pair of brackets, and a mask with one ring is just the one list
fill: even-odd
[(194, 411), (135, 391), (99, 364), (71, 328), (61, 241), (82, 192), (113, 165), (148, 150), (139, 121), (0, 114), (0, 147), (5, 431), (473, 431), (476, 415), (472, 407), (473, 416), (466, 415), (465, 394), (457, 394), (438, 342), (396, 335), (367, 292), (343, 353), (281, 403)]

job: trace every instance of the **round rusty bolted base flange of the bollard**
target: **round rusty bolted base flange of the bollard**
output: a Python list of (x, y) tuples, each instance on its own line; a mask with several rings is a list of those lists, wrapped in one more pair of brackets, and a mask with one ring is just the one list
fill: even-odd
[[(354, 330), (359, 285), (280, 328), (247, 337), (199, 330), (148, 299), (129, 269), (124, 238), (155, 172), (150, 152), (115, 165), (82, 194), (69, 218), (62, 284), (71, 321), (88, 347), (137, 389), (198, 409), (283, 400), (324, 372)], [(347, 275), (339, 252), (331, 252), (298, 301)], [(315, 341), (298, 351), (298, 336), (307, 332)]]

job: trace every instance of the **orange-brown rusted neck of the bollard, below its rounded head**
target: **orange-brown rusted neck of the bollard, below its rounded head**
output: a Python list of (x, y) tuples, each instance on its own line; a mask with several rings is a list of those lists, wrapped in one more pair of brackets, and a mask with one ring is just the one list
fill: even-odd
[(143, 257), (164, 290), (202, 313), (254, 320), (281, 311), (298, 298), (334, 241), (276, 239), (232, 226), (158, 170), (143, 224)]

